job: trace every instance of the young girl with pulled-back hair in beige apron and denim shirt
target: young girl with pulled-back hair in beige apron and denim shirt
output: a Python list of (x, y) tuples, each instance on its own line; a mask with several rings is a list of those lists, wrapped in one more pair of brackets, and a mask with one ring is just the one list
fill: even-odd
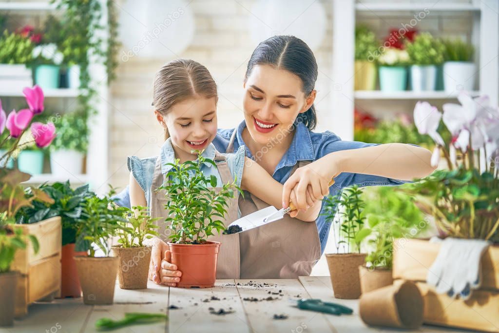
[[(164, 182), (164, 175), (171, 168), (166, 165), (176, 158), (183, 163), (196, 160), (193, 150), (203, 151), (202, 155), (215, 160), (217, 167), (206, 163), (202, 172), (206, 176), (217, 177), (217, 187), (236, 179), (241, 189), (264, 202), (282, 207), (282, 184), (275, 181), (262, 167), (249, 158), (245, 158), (245, 147), (241, 146), (234, 154), (221, 154), (212, 144), (217, 135), (217, 86), (208, 69), (193, 60), (179, 59), (165, 64), (157, 73), (153, 86), (153, 105), (158, 122), (165, 129), (166, 141), (161, 147), (159, 156), (150, 158), (128, 157), (130, 170), (130, 203), (131, 206), (142, 205), (150, 208), (153, 217), (166, 217), (164, 208), (166, 199), (156, 189)], [(235, 192), (237, 193), (237, 192)], [(291, 201), (295, 202), (294, 193)], [(320, 211), (320, 205), (314, 205), (314, 200), (307, 194), (307, 203), (312, 209), (293, 211), (291, 217), (302, 221), (315, 221)], [(238, 198), (230, 201), (226, 226), (239, 217)], [(161, 225), (161, 224), (160, 224)], [(164, 223), (163, 223), (164, 225)], [(310, 225), (316, 229), (315, 225)], [(168, 230), (160, 228), (162, 240), (167, 241)], [(210, 240), (220, 240), (221, 247), (217, 264), (218, 279), (239, 278), (240, 244), (239, 236), (211, 236)], [(169, 261), (169, 251), (165, 254)], [(153, 254), (152, 257), (155, 257)], [(175, 285), (178, 277), (165, 281), (158, 276), (157, 263), (151, 262), (150, 278), (157, 283), (168, 282)], [(172, 281), (173, 280), (173, 281)]]

